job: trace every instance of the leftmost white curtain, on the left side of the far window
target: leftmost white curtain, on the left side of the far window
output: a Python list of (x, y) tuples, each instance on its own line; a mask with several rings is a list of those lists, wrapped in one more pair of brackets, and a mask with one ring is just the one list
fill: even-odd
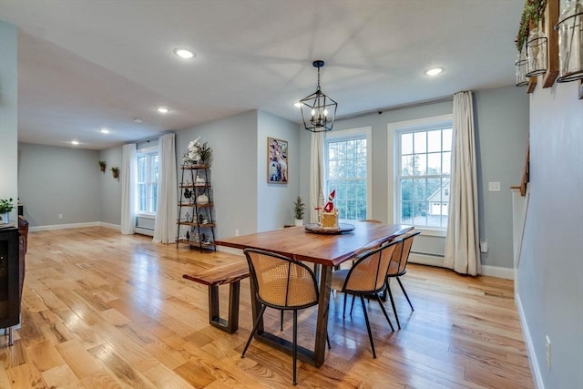
[(136, 233), (136, 144), (124, 145), (121, 155), (121, 233)]

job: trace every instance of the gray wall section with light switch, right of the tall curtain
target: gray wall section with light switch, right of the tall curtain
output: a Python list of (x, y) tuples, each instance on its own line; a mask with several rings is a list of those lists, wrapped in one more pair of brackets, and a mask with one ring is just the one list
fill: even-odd
[[(522, 87), (476, 93), (476, 149), (483, 264), (512, 267), (512, 192), (520, 184), (528, 145), (528, 97)], [(500, 182), (499, 192), (488, 182)]]

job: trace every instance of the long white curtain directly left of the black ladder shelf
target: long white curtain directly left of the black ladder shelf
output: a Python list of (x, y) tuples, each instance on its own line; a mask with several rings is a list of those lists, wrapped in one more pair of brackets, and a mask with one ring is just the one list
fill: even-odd
[(176, 148), (174, 134), (159, 138), (158, 204), (154, 239), (156, 243), (174, 243), (178, 232), (178, 188), (176, 178)]

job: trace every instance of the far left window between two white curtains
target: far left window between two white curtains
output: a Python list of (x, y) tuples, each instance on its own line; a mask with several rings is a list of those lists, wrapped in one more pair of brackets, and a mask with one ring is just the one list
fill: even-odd
[(158, 202), (158, 150), (140, 150), (138, 159), (138, 213), (156, 214)]

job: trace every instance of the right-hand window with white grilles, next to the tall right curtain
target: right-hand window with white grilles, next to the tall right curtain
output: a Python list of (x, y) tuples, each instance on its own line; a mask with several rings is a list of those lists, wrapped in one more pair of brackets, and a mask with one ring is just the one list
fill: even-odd
[(394, 129), (395, 221), (447, 229), (451, 181), (451, 116), (401, 123)]

